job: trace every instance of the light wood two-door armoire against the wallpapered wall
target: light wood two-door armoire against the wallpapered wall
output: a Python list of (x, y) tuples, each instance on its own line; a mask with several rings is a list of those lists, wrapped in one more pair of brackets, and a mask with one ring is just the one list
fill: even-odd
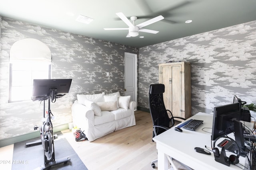
[[(164, 84), (164, 105), (173, 116), (191, 117), (190, 63), (159, 64), (159, 83)], [(170, 117), (170, 116), (169, 116)]]

